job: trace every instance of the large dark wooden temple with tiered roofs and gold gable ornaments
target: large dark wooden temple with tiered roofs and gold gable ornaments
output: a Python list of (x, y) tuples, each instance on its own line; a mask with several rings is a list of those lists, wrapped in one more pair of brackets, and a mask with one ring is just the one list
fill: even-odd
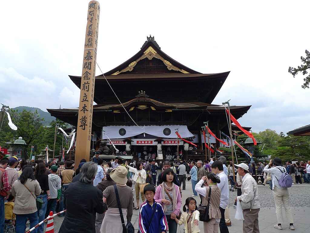
[[(152, 156), (155, 153), (157, 157), (157, 149), (162, 148), (165, 158), (166, 153), (171, 155), (177, 151), (178, 144), (179, 154), (186, 153), (187, 157), (196, 148), (191, 149), (187, 143), (177, 140), (175, 131), (196, 144), (198, 151), (204, 149), (201, 135), (204, 122), (208, 121), (218, 138), (221, 138), (220, 131), (228, 134), (224, 107), (211, 104), (228, 74), (229, 71), (215, 74), (194, 71), (169, 57), (154, 37), (149, 36), (138, 53), (96, 76), (94, 101), (97, 104), (93, 107), (92, 134), (106, 140), (107, 144), (111, 140), (121, 152), (134, 157), (139, 153), (143, 159), (143, 153)], [(88, 78), (69, 77), (78, 88), (81, 88), (81, 79), (87, 82)], [(230, 110), (238, 119), (250, 107), (231, 106)], [(78, 108), (47, 111), (78, 127)], [(250, 130), (249, 127), (245, 129)], [(232, 130), (238, 129), (232, 126)], [(212, 136), (210, 143), (220, 146)]]

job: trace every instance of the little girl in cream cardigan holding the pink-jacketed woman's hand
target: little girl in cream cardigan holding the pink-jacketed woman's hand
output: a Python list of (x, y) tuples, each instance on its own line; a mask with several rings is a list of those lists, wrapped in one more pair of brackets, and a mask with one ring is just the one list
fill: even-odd
[(196, 200), (192, 197), (188, 197), (185, 200), (185, 205), (183, 206), (183, 213), (180, 219), (175, 218), (180, 226), (184, 224), (185, 233), (197, 233), (200, 232), (198, 221), (199, 221), (199, 211), (197, 210)]

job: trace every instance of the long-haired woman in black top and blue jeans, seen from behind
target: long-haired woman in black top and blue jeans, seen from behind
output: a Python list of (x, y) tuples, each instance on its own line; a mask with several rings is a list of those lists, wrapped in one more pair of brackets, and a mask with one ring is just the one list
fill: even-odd
[[(34, 176), (38, 180), (41, 187), (41, 194), (38, 196), (38, 198), (41, 198), (43, 201), (42, 207), (38, 209), (39, 222), (41, 222), (45, 218), (45, 213), (47, 209), (47, 200), (51, 199), (50, 187), (48, 185), (48, 175), (46, 173), (46, 166), (44, 163), (42, 162), (38, 163), (34, 171)], [(43, 231), (44, 231), (44, 225), (41, 224), (38, 227), (38, 233), (43, 233)]]

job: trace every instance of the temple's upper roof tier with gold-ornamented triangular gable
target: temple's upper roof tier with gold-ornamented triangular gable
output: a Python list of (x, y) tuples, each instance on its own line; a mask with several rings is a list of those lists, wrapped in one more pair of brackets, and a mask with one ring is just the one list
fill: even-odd
[[(194, 71), (162, 52), (154, 37), (149, 36), (138, 53), (104, 75), (95, 77), (94, 101), (97, 104), (118, 104), (106, 78), (122, 103), (130, 101), (141, 89), (165, 103), (182, 103), (184, 99), (212, 103), (228, 74), (229, 71), (214, 74)], [(69, 77), (80, 88), (82, 77)]]

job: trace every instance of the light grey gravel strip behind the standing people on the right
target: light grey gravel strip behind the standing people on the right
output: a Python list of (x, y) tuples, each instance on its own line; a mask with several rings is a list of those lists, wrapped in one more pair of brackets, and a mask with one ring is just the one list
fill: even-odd
[[(291, 207), (310, 207), (310, 185), (307, 186), (300, 186), (300, 187), (290, 187), (290, 206)], [(230, 185), (229, 185), (230, 187)], [(269, 188), (269, 185), (265, 187), (259, 185), (259, 201), (261, 208), (263, 207), (275, 207), (272, 190)], [(229, 207), (232, 207), (233, 203), (235, 202), (235, 198), (237, 196), (237, 190), (235, 189), (234, 192), (229, 191)]]

